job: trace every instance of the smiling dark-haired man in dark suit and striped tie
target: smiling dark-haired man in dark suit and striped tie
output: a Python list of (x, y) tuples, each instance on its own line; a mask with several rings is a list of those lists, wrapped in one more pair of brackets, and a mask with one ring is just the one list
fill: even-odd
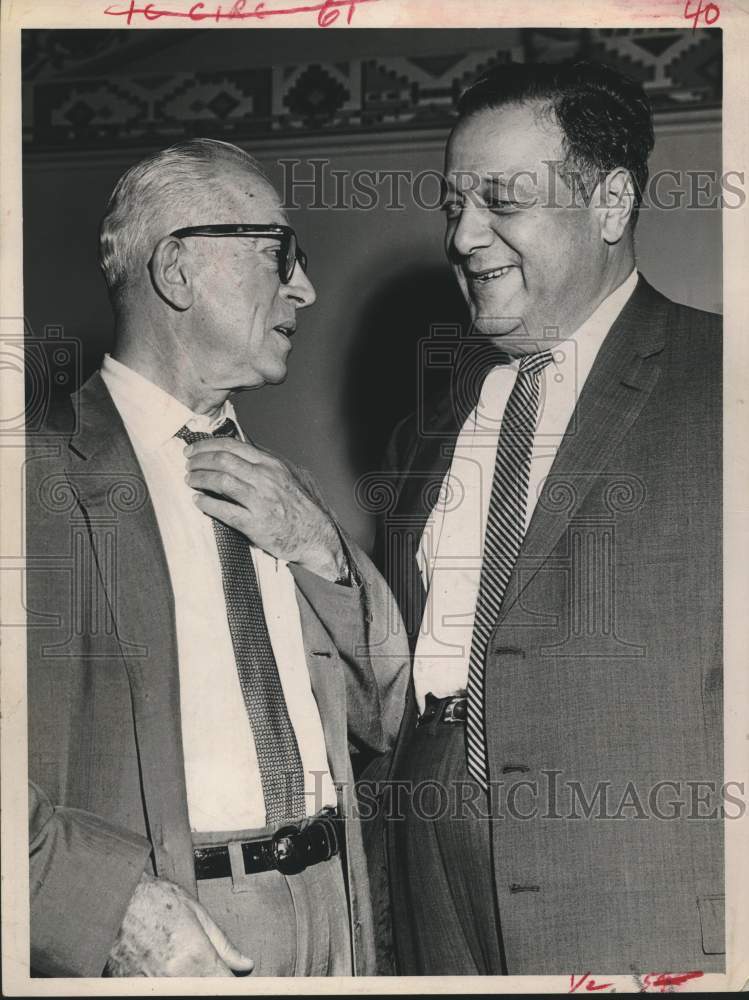
[(501, 66), (459, 111), (468, 360), (396, 429), (381, 532), (413, 647), (390, 774), (420, 790), (387, 828), (397, 968), (717, 971), (720, 318), (637, 270), (639, 85)]

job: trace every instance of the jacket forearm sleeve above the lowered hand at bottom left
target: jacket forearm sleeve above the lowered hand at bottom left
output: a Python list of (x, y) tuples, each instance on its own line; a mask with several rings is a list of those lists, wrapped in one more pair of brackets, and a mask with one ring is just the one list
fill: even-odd
[(150, 845), (81, 809), (55, 808), (29, 783), (31, 967), (100, 976)]

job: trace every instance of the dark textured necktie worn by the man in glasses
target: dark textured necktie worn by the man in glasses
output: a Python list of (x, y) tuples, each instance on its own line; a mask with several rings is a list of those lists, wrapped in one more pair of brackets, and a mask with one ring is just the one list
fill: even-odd
[[(191, 431), (186, 426), (176, 434), (186, 444), (236, 435), (232, 420), (224, 421), (213, 434)], [(250, 543), (241, 532), (212, 520), (229, 632), (255, 741), (266, 819), (269, 825), (300, 819), (307, 811), (304, 768), (268, 635)], [(227, 767), (231, 767), (231, 761), (227, 761)]]

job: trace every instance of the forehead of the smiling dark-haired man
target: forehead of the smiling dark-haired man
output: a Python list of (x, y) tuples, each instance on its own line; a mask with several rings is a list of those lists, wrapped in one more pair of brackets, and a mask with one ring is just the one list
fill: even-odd
[(453, 129), (445, 150), (445, 176), (451, 188), (476, 176), (511, 177), (543, 173), (564, 157), (563, 135), (541, 101), (486, 108)]

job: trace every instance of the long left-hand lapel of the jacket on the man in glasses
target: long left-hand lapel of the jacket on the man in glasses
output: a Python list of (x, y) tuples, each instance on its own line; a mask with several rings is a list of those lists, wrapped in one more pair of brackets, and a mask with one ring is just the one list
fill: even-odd
[[(69, 479), (85, 511), (133, 699), (141, 782), (159, 875), (191, 887), (174, 601), (154, 509), (119, 413), (96, 373), (73, 397)], [(101, 528), (112, 558), (104, 569)]]

